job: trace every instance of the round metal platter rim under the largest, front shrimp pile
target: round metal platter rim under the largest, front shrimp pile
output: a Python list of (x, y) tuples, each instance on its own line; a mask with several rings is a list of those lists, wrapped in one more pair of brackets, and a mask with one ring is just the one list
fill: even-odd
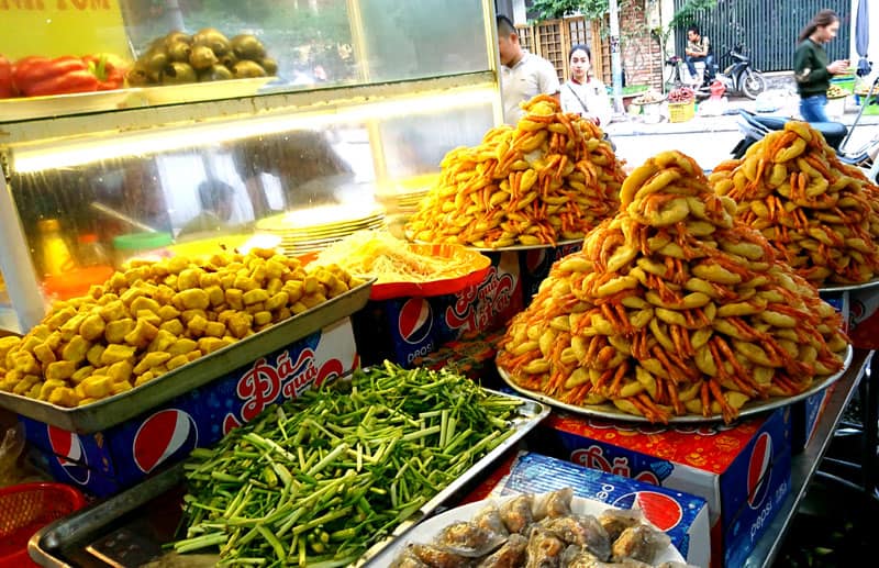
[[(738, 416), (745, 417), (750, 416), (754, 414), (761, 414), (764, 412), (768, 412), (770, 410), (775, 410), (779, 406), (786, 406), (788, 404), (792, 404), (797, 401), (808, 399), (815, 392), (830, 387), (834, 382), (836, 382), (845, 372), (848, 370), (848, 367), (852, 365), (852, 357), (854, 354), (854, 349), (849, 345), (846, 348), (845, 359), (843, 360), (843, 368), (839, 372), (835, 375), (831, 375), (826, 379), (822, 381), (814, 382), (809, 389), (805, 391), (795, 394), (793, 397), (772, 397), (766, 400), (755, 400), (753, 402), (746, 402), (738, 410)], [(567, 402), (561, 402), (556, 400), (552, 397), (548, 397), (542, 392), (535, 392), (533, 390), (528, 390), (522, 388), (521, 386), (516, 385), (510, 376), (507, 374), (505, 370), (498, 367), (498, 372), (500, 374), (501, 378), (516, 392), (524, 394), (525, 397), (531, 397), (535, 400), (544, 402), (546, 404), (550, 404), (558, 409), (566, 410), (568, 412), (572, 412), (576, 414), (583, 414), (587, 416), (592, 417), (600, 417), (600, 419), (609, 419), (609, 420), (619, 420), (622, 422), (644, 422), (649, 423), (647, 419), (644, 416), (638, 416), (635, 414), (630, 414), (627, 412), (623, 412), (619, 410), (616, 406), (612, 404), (590, 404), (590, 405), (577, 405), (577, 404), (568, 404)], [(722, 422), (723, 416), (720, 414), (714, 414), (711, 416), (702, 416), (701, 414), (687, 414), (686, 416), (671, 416), (668, 419), (669, 424), (686, 424), (686, 423), (703, 423), (703, 422)]]

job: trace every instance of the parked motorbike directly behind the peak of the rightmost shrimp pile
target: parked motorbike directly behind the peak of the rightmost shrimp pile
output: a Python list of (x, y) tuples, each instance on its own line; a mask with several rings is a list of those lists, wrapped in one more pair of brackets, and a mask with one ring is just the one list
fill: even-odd
[[(879, 76), (874, 80), (869, 92), (875, 92), (878, 86)], [(836, 151), (836, 156), (841, 162), (852, 166), (867, 166), (865, 168), (868, 169), (867, 178), (877, 182), (879, 181), (879, 160), (870, 164), (870, 154), (875, 149), (875, 145), (879, 144), (879, 141), (874, 140), (859, 148), (848, 148), (848, 141), (852, 138), (852, 134), (860, 122), (864, 109), (870, 103), (870, 99), (876, 96), (870, 94), (865, 98), (860, 111), (850, 127), (847, 127), (842, 122), (810, 122), (809, 125), (824, 136), (827, 145)], [(763, 140), (769, 132), (783, 130), (785, 124), (792, 120), (786, 116), (760, 116), (744, 109), (738, 110), (738, 130), (742, 132), (743, 138), (738, 141), (731, 152), (735, 159), (741, 159), (752, 145)]]

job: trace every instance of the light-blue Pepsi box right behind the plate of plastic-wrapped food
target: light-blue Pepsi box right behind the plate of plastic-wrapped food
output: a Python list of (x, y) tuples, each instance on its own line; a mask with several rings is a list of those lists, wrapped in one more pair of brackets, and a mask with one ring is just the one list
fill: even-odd
[(619, 509), (637, 509), (693, 566), (711, 557), (708, 503), (704, 499), (634, 479), (577, 466), (541, 454), (520, 453), (490, 495), (545, 493), (566, 487), (583, 499)]

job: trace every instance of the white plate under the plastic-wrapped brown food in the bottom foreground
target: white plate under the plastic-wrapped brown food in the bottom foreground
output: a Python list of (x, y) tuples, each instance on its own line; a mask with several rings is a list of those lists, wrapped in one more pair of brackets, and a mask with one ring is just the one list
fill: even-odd
[[(467, 503), (466, 505), (457, 506), (444, 513), (441, 513), (427, 521), (424, 521), (415, 528), (409, 532), (405, 535), (405, 538), (398, 538), (394, 544), (389, 546), (381, 555), (379, 555), (375, 560), (369, 563), (369, 568), (379, 568), (385, 566), (390, 566), (394, 558), (400, 555), (403, 549), (405, 548), (408, 543), (420, 543), (420, 544), (429, 544), (432, 543), (434, 538), (439, 536), (439, 533), (446, 526), (458, 523), (458, 522), (469, 522), (472, 521), (474, 517), (485, 509), (489, 504), (494, 504), (500, 508), (500, 505), (511, 499), (514, 499), (516, 495), (504, 495), (497, 499), (485, 499), (482, 501), (476, 501), (472, 503)], [(599, 516), (601, 513), (609, 509), (616, 509), (615, 506), (611, 506), (607, 503), (602, 503), (601, 501), (593, 501), (591, 499), (583, 499), (581, 497), (574, 497), (570, 503), (571, 511), (578, 515), (593, 515)], [(666, 548), (660, 550), (656, 558), (654, 559), (653, 565), (658, 566), (663, 563), (681, 563), (686, 564), (683, 556), (675, 548), (675, 545), (671, 543), (668, 544)]]

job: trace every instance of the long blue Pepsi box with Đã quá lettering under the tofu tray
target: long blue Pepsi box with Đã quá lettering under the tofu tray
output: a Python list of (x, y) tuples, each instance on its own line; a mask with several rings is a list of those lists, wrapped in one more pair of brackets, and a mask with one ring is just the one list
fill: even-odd
[(105, 497), (207, 447), (266, 408), (359, 365), (346, 318), (105, 432), (77, 434), (19, 416), (38, 463), (58, 481)]

